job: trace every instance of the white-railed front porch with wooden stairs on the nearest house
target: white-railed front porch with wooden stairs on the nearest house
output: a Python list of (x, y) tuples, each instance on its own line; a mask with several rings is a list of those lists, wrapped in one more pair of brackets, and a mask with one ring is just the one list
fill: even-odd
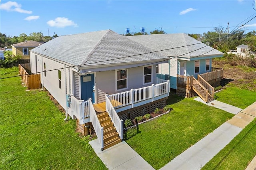
[[(67, 96), (68, 114), (77, 119), (80, 125), (92, 125), (101, 144), (109, 148), (123, 139), (122, 119), (128, 119), (130, 111), (165, 103), (169, 96), (170, 81), (157, 79), (156, 84), (122, 93), (105, 95), (105, 102), (92, 104), (92, 100), (78, 100)], [(120, 115), (122, 114), (122, 115)], [(146, 114), (146, 113), (145, 113)]]

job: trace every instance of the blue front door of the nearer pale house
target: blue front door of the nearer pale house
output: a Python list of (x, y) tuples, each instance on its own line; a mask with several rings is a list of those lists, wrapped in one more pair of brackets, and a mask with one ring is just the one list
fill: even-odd
[(94, 74), (81, 76), (81, 99), (86, 101), (90, 98), (94, 103)]

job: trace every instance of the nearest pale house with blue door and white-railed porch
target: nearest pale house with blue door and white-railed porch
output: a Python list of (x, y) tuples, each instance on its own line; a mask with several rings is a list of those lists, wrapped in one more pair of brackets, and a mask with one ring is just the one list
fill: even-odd
[(122, 140), (123, 120), (165, 106), (170, 82), (156, 77), (156, 65), (168, 59), (112, 30), (59, 36), (30, 50), (31, 72), (41, 74), (66, 119), (95, 131), (102, 150)]

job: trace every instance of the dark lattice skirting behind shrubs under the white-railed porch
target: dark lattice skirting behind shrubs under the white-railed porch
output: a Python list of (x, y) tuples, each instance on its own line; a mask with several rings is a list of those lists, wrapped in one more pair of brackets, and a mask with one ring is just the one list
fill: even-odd
[(147, 113), (152, 113), (152, 112), (154, 112), (154, 110), (156, 110), (156, 108), (162, 109), (165, 107), (165, 105), (166, 105), (165, 100), (160, 101), (158, 103), (154, 103), (152, 105), (131, 111), (130, 113), (128, 112), (128, 113), (119, 115), (119, 118), (122, 119), (123, 121), (125, 121), (126, 119), (134, 119), (135, 117), (144, 116)]

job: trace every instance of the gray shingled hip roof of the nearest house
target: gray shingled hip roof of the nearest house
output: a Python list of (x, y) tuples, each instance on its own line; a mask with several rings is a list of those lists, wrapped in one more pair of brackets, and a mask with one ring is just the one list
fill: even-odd
[(168, 59), (112, 30), (60, 36), (31, 51), (72, 65), (85, 63), (86, 65), (103, 65)]

